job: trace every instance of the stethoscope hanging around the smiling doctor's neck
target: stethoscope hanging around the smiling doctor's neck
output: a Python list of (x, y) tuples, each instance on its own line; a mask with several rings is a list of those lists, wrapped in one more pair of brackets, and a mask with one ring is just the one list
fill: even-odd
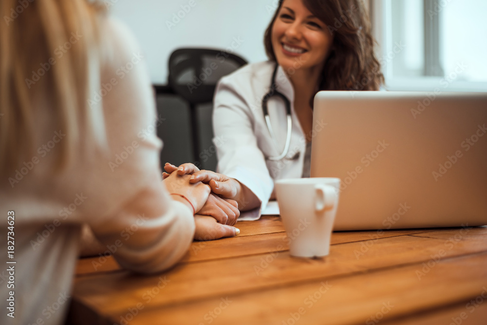
[[(277, 73), (278, 68), (279, 68), (279, 64), (276, 63), (276, 68), (274, 69), (274, 72), (272, 73), (270, 90), (262, 98), (262, 111), (264, 113), (265, 123), (267, 124), (267, 129), (269, 130), (272, 141), (276, 145), (276, 148), (278, 147), (278, 142), (277, 142), (276, 135), (274, 134), (274, 131), (272, 129), (271, 120), (269, 118), (269, 112), (267, 111), (267, 102), (269, 101), (269, 99), (272, 96), (278, 96), (282, 99), (282, 101), (284, 102), (284, 105), (286, 107), (286, 114), (287, 114), (286, 144), (284, 145), (284, 150), (282, 150), (281, 155), (274, 156), (274, 157), (267, 157), (267, 159), (272, 160), (272, 161), (279, 161), (279, 160), (282, 160), (284, 157), (286, 157), (287, 153), (289, 152), (289, 146), (291, 145), (291, 132), (292, 132), (292, 127), (293, 127), (293, 120), (291, 118), (291, 103), (289, 102), (289, 99), (287, 99), (287, 97), (284, 96), (284, 94), (282, 92), (277, 90), (276, 73)], [(291, 159), (294, 160), (294, 159), (297, 159), (298, 157), (299, 157), (299, 154), (295, 155)]]

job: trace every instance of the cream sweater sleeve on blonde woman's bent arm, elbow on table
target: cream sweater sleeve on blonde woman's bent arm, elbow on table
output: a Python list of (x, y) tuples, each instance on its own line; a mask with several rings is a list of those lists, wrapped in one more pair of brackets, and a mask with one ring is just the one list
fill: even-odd
[(101, 84), (102, 89), (112, 87), (102, 92), (110, 154), (100, 165), (106, 172), (98, 192), (109, 192), (100, 195), (110, 209), (88, 223), (121, 266), (141, 273), (163, 271), (187, 253), (194, 217), (187, 206), (170, 199), (162, 181), (162, 142), (155, 132), (145, 54), (117, 20), (107, 19), (101, 30), (107, 48)]

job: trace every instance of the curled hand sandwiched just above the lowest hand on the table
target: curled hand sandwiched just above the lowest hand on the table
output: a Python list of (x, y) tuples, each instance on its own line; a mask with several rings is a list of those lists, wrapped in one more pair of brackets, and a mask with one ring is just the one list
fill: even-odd
[(198, 212), (199, 215), (214, 217), (223, 225), (233, 226), (240, 217), (237, 201), (223, 199), (214, 193), (210, 193), (203, 208)]

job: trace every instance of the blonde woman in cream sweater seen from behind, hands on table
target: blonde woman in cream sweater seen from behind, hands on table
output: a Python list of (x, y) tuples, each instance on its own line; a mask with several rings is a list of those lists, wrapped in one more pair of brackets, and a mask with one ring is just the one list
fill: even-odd
[(1, 280), (1, 323), (61, 324), (82, 224), (149, 273), (193, 237), (237, 234), (238, 210), (226, 200), (230, 220), (193, 217), (225, 204), (189, 176), (163, 184), (144, 55), (122, 24), (85, 0), (20, 2), (0, 2), (1, 253), (16, 262), (1, 277), (14, 278)]

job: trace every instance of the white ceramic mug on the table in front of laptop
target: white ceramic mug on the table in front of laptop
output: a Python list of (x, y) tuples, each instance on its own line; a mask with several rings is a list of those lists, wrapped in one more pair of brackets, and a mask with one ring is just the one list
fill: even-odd
[(301, 178), (275, 183), (289, 253), (320, 257), (330, 252), (330, 237), (337, 214), (340, 179)]

